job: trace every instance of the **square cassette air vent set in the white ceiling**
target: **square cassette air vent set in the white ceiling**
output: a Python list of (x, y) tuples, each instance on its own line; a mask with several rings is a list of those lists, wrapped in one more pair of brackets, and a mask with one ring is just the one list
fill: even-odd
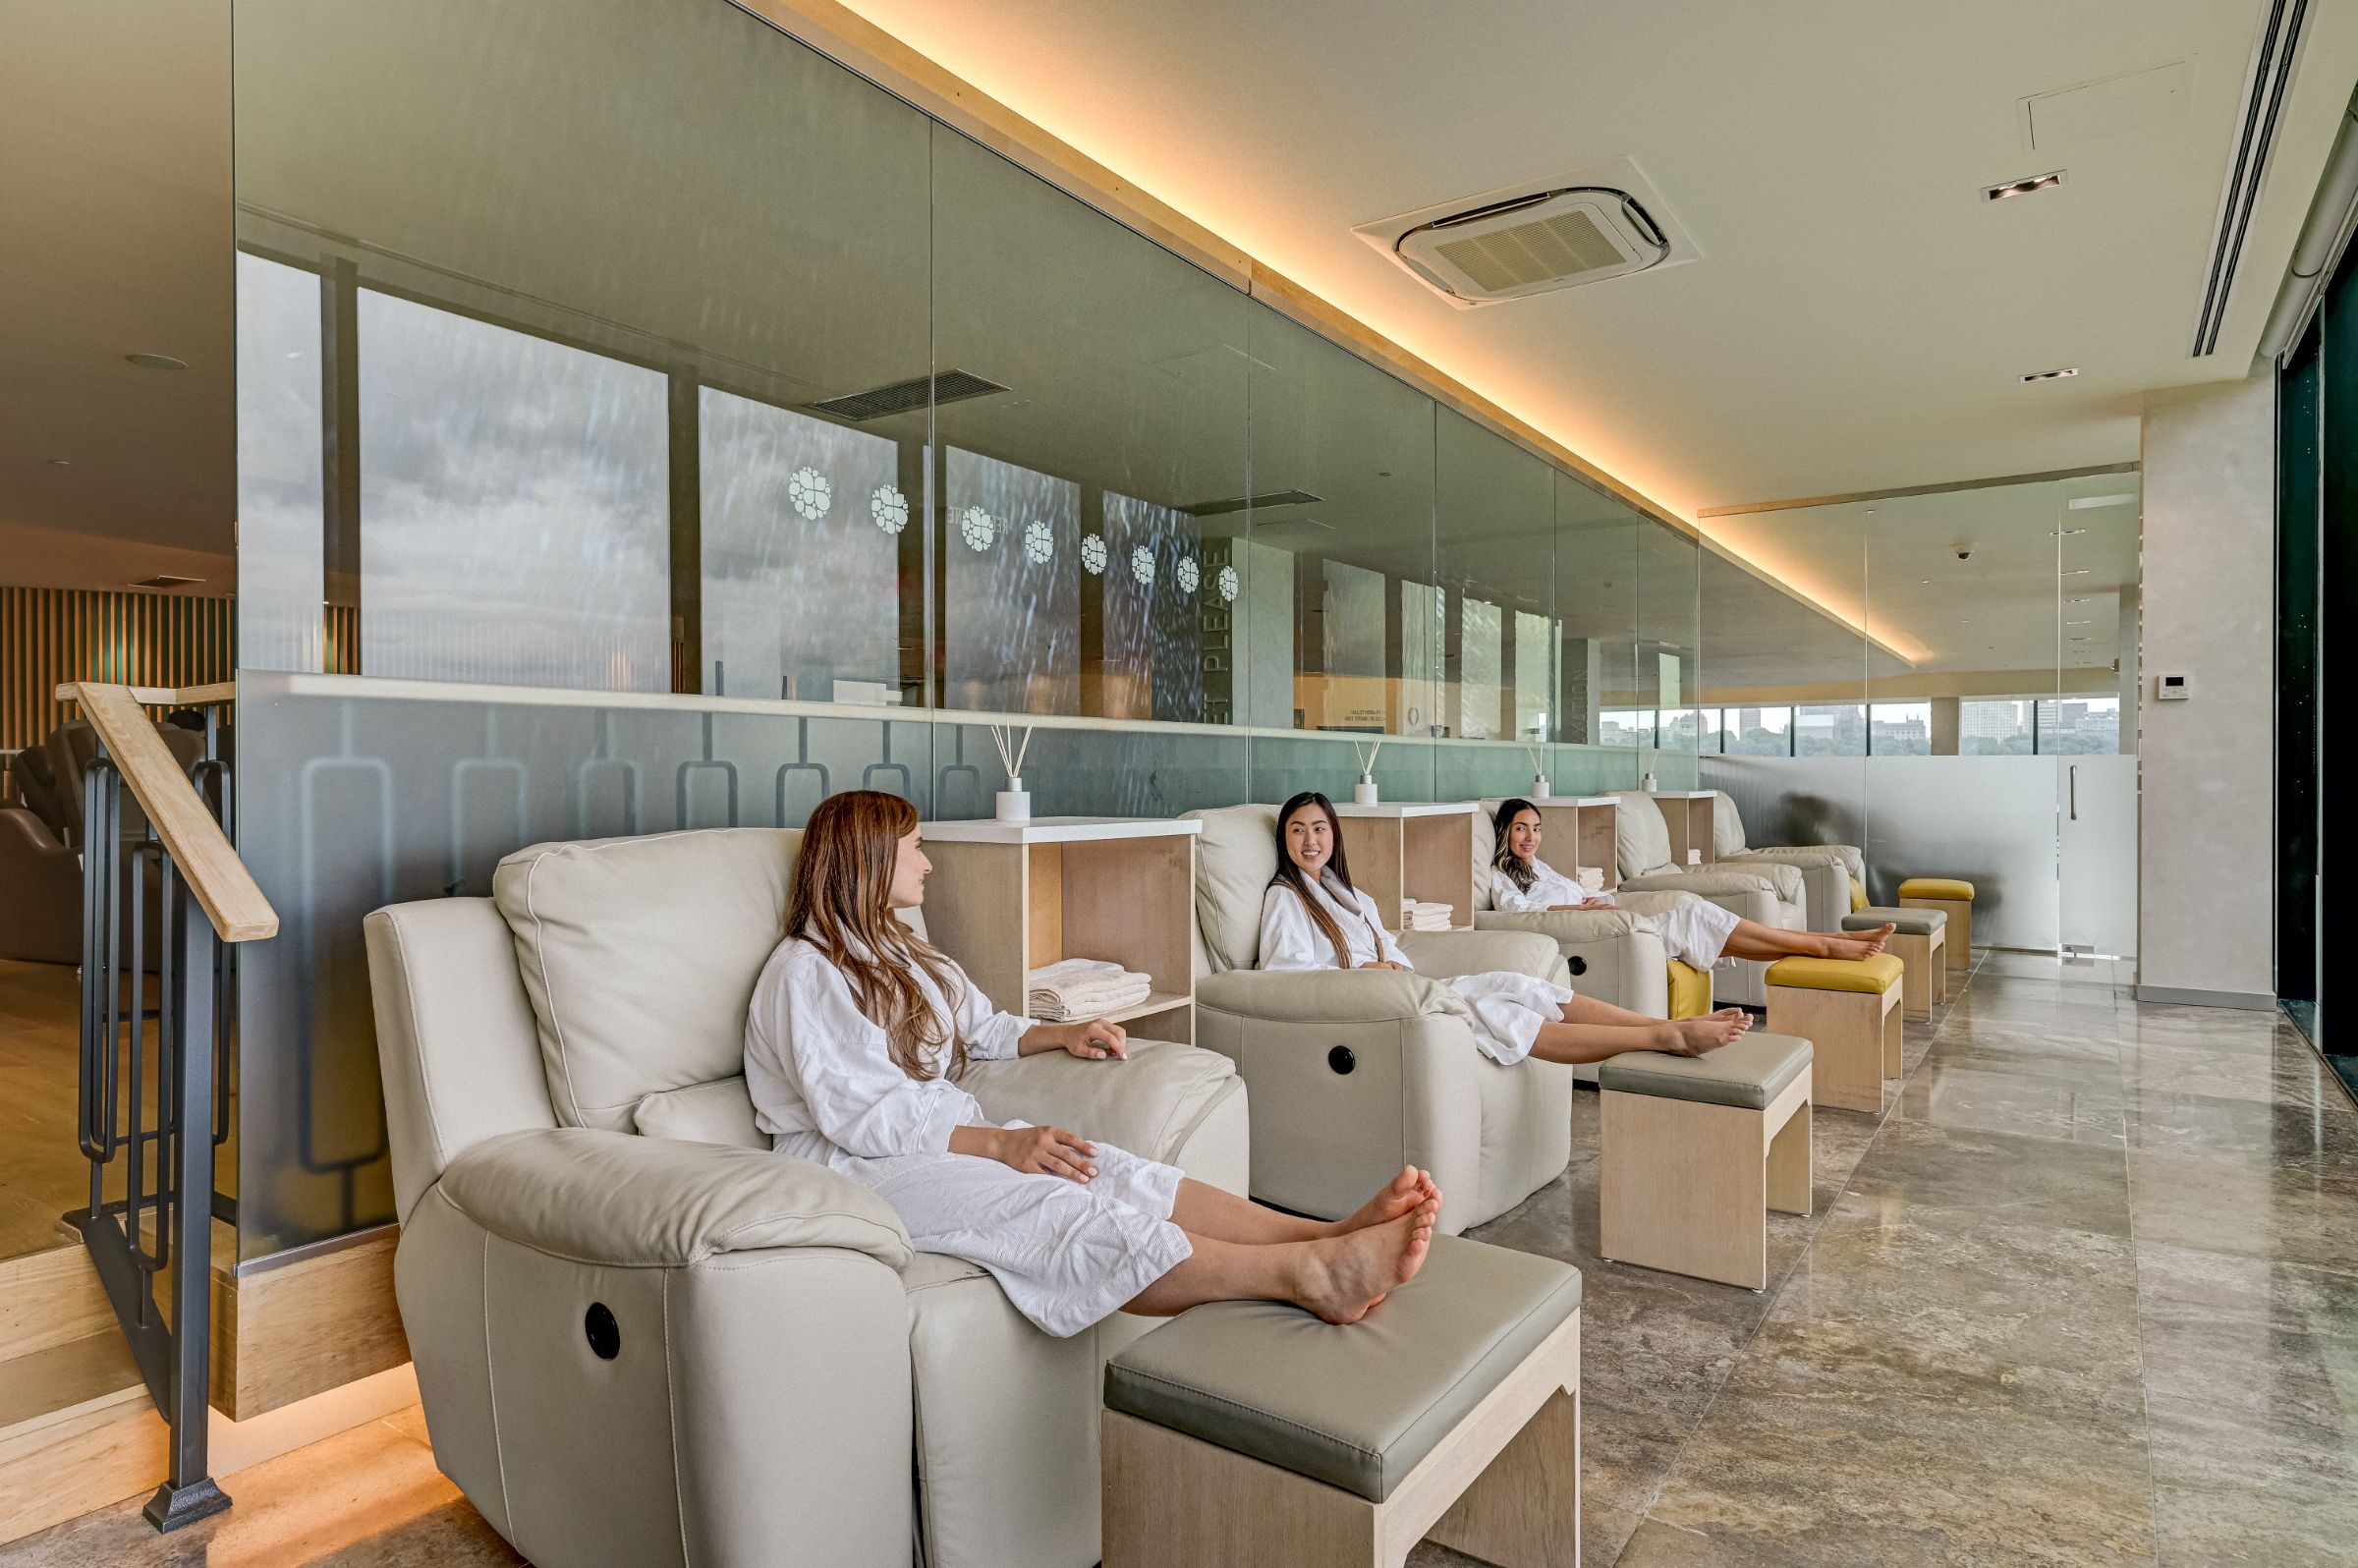
[(1493, 191), (1361, 224), (1356, 233), (1460, 309), (1698, 255), (1627, 158), (1540, 189)]

